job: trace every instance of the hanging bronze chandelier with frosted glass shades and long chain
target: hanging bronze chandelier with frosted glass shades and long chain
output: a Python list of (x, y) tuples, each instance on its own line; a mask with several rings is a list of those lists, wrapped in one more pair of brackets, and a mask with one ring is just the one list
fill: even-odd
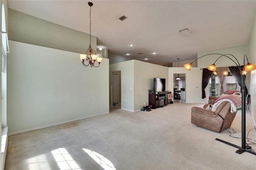
[[(92, 2), (88, 2), (88, 5), (90, 6), (90, 45), (89, 48), (86, 50), (85, 54), (80, 54), (80, 59), (84, 67), (87, 67), (88, 65), (90, 65), (91, 67), (99, 67), (102, 61), (102, 57), (98, 57), (96, 55), (96, 51), (92, 49), (91, 45), (91, 7), (93, 4)], [(96, 63), (96, 60), (98, 64), (94, 65)]]

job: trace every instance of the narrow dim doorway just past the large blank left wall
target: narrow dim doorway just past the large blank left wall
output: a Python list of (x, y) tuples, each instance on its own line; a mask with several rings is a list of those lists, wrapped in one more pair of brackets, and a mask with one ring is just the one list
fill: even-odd
[(121, 109), (121, 71), (112, 72), (111, 105)]

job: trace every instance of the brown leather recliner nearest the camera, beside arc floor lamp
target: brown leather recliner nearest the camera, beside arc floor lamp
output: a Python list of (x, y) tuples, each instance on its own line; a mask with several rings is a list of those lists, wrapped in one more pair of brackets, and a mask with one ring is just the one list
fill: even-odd
[(220, 103), (215, 112), (205, 109), (209, 104), (202, 107), (192, 107), (191, 123), (215, 132), (229, 128), (236, 116), (235, 113), (230, 113), (230, 102), (224, 101)]

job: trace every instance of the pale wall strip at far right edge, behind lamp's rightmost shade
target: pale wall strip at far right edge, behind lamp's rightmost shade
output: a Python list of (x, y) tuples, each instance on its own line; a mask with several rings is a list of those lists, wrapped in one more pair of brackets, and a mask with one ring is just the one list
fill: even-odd
[[(252, 26), (252, 32), (250, 35), (250, 45), (249, 45), (249, 62), (256, 64), (256, 13), (254, 14), (254, 22)], [(250, 74), (247, 75), (250, 77), (249, 89), (251, 95), (251, 105), (250, 111), (254, 119), (254, 125), (256, 126), (256, 70), (250, 71)]]

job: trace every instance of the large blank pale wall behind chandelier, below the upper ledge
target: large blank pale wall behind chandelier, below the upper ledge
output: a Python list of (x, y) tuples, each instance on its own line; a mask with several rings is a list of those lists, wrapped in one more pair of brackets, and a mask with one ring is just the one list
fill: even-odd
[(100, 67), (83, 67), (79, 53), (14, 41), (9, 45), (10, 133), (109, 113), (108, 59)]

